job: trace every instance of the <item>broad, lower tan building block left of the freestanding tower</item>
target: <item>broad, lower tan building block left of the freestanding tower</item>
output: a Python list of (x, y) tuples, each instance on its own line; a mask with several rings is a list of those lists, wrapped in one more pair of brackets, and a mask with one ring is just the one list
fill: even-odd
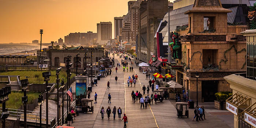
[(65, 44), (89, 45), (89, 43), (93, 43), (94, 39), (97, 39), (97, 33), (92, 31), (87, 31), (87, 33), (69, 33), (64, 39)]

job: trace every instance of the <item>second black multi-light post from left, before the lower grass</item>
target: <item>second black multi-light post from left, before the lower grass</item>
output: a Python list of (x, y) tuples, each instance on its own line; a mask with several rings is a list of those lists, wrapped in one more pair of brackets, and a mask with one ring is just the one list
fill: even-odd
[(20, 80), (20, 83), (21, 83), (21, 86), (22, 86), (22, 91), (23, 91), (23, 97), (22, 97), (22, 103), (23, 103), (23, 106), (24, 106), (24, 128), (27, 128), (27, 89), (28, 89), (28, 86), (27, 84), (29, 83), (29, 80), (28, 79), (23, 79), (23, 80)]

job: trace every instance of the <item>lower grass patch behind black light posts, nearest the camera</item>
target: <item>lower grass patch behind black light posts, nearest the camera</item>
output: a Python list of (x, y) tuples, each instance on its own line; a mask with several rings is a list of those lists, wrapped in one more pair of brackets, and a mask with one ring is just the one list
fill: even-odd
[[(35, 99), (38, 98), (39, 93), (27, 92), (28, 102), (27, 104), (32, 103)], [(6, 108), (19, 109), (23, 105), (21, 98), (23, 97), (23, 92), (12, 91), (8, 95), (9, 100), (6, 102)], [(0, 104), (2, 107), (2, 104)]]

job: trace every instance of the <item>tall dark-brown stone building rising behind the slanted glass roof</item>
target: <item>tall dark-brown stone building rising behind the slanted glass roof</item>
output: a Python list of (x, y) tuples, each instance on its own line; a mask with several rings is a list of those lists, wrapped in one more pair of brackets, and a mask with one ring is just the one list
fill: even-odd
[(166, 12), (167, 0), (147, 0), (140, 4), (137, 55), (139, 60), (148, 62), (156, 54), (157, 43), (154, 35)]

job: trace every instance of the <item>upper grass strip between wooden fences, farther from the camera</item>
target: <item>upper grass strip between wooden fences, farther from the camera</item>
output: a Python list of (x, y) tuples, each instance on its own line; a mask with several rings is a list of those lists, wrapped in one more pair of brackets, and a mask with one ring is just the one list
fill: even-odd
[[(42, 72), (46, 71), (8, 71), (8, 72), (0, 72), (0, 75), (20, 75), (20, 80), (26, 79), (25, 76), (29, 76), (29, 83), (44, 83), (44, 78), (42, 76)], [(56, 71), (51, 71), (52, 76), (50, 76), (50, 80), (48, 83), (56, 83)], [(75, 74), (71, 75), (71, 78), (73, 78)], [(60, 82), (61, 78), (64, 79), (64, 82), (67, 82), (67, 73), (65, 71), (61, 71), (60, 75)]]

